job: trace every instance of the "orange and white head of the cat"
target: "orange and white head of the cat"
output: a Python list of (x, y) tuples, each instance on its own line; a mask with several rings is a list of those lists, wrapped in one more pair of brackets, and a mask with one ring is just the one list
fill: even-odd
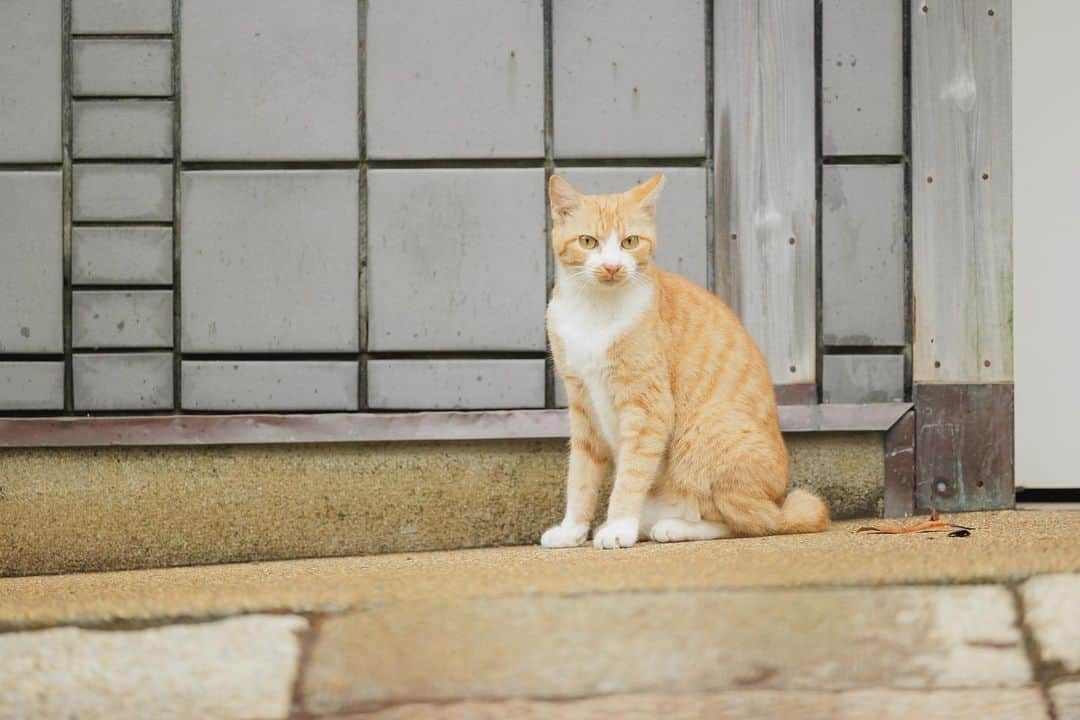
[(551, 176), (551, 243), (561, 276), (596, 287), (619, 287), (646, 276), (657, 247), (657, 198), (664, 176), (626, 192), (583, 195)]

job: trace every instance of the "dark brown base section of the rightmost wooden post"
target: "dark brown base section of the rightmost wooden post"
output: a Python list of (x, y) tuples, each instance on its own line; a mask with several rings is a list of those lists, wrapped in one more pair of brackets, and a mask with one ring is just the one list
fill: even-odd
[(915, 385), (916, 508), (1012, 507), (1013, 385)]

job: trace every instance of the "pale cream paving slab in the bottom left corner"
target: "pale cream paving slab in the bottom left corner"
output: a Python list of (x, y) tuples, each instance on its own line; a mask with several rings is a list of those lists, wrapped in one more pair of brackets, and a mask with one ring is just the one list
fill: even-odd
[(249, 615), (133, 631), (0, 635), (0, 720), (284, 718), (297, 616)]

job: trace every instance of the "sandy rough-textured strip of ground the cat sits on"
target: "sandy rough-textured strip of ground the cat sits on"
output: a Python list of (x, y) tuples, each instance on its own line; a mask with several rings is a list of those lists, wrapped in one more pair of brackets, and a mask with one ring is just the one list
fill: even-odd
[(6, 578), (0, 579), (0, 627), (515, 594), (977, 583), (1080, 572), (1080, 513), (955, 518), (975, 528), (970, 538), (854, 534), (868, 521), (852, 520), (820, 534), (643, 543), (619, 552), (532, 545)]

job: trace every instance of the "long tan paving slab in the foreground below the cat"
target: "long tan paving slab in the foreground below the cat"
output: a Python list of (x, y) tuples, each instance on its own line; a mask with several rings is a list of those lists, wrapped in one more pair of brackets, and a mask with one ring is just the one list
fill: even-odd
[(1022, 687), (1003, 587), (718, 590), (401, 602), (326, 619), (303, 709), (740, 688)]

